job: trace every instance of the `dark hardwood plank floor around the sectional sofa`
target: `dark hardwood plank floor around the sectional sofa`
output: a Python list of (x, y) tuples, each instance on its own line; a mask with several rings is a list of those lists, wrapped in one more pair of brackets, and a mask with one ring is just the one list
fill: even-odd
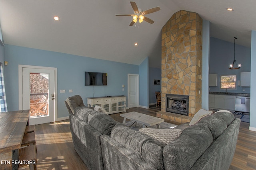
[[(150, 109), (144, 109), (135, 107), (127, 109), (126, 113), (131, 111), (156, 116), (159, 108), (150, 107)], [(123, 121), (120, 113), (111, 114), (110, 116), (116, 121)], [(177, 124), (171, 121), (167, 122)], [(241, 122), (236, 152), (230, 165), (230, 170), (256, 169), (256, 132), (248, 129), (249, 123)], [(36, 125), (35, 133), (38, 150), (36, 154), (38, 170), (88, 169), (74, 150), (69, 120)]]

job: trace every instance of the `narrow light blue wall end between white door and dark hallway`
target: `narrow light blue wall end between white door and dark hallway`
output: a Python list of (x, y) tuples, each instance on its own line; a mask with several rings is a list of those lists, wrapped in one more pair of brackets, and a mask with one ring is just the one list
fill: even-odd
[(140, 80), (139, 80), (139, 93), (140, 93), (140, 106), (148, 108), (148, 57), (140, 64)]

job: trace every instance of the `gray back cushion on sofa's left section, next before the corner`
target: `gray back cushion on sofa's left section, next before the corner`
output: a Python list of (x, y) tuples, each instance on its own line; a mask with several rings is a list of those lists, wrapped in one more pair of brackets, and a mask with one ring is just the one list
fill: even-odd
[(100, 133), (110, 135), (112, 128), (116, 125), (116, 121), (109, 115), (94, 110), (88, 115), (88, 124)]

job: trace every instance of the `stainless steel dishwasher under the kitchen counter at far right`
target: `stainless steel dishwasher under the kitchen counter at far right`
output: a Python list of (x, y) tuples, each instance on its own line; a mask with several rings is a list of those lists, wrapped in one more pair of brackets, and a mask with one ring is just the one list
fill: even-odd
[(250, 112), (250, 97), (236, 96), (236, 111)]

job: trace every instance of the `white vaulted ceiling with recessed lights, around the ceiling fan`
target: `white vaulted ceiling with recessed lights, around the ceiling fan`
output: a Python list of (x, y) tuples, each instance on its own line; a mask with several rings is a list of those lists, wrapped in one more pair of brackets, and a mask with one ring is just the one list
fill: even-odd
[(137, 65), (149, 57), (150, 66), (160, 68), (161, 29), (179, 10), (210, 21), (211, 37), (232, 43), (237, 37), (246, 47), (256, 29), (255, 0), (134, 1), (142, 10), (160, 7), (146, 15), (153, 24), (129, 26), (132, 17), (115, 16), (133, 14), (130, 0), (0, 0), (4, 43)]

